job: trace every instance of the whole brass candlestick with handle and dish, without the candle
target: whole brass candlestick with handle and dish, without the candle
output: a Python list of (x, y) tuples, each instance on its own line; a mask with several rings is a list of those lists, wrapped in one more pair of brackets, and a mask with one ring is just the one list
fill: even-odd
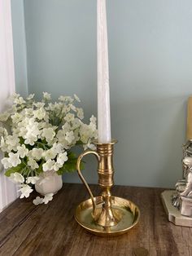
[[(90, 199), (81, 202), (76, 208), (76, 222), (88, 232), (98, 236), (116, 236), (127, 232), (138, 222), (140, 211), (137, 205), (124, 198), (111, 196), (114, 184), (113, 147), (111, 143), (96, 143), (97, 151), (85, 151), (77, 160), (77, 171), (89, 192)], [(93, 196), (88, 183), (81, 174), (81, 160), (89, 154), (98, 159), (98, 185), (102, 188), (101, 196)]]

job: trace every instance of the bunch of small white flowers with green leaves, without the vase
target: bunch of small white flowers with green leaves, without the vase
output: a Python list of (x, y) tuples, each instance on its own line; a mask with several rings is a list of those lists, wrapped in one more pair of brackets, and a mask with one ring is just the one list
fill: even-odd
[[(84, 113), (76, 107), (80, 102), (76, 95), (59, 96), (55, 103), (46, 92), (41, 101), (36, 101), (34, 95), (24, 99), (15, 94), (11, 99), (11, 108), (0, 114), (2, 166), (5, 175), (19, 184), (23, 198), (33, 192), (34, 186), (45, 183), (49, 173), (58, 176), (76, 170), (73, 149), (77, 145), (94, 149), (96, 118), (90, 117), (89, 124), (82, 121)], [(43, 195), (33, 203), (47, 204), (54, 192)]]

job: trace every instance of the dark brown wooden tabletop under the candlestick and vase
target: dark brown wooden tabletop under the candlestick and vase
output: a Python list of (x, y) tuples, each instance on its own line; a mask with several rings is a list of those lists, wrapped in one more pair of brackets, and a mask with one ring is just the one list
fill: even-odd
[[(98, 186), (92, 185), (94, 195)], [(76, 205), (87, 198), (81, 184), (63, 184), (48, 205), (33, 205), (31, 199), (16, 200), (0, 214), (0, 255), (134, 255), (133, 249), (148, 249), (151, 256), (191, 256), (192, 228), (169, 223), (160, 201), (160, 188), (115, 186), (113, 195), (135, 202), (141, 219), (127, 234), (99, 237), (85, 232), (73, 218)]]

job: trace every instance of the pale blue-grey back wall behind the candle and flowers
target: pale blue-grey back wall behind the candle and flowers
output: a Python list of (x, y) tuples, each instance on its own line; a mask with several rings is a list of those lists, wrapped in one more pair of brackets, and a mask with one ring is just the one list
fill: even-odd
[[(172, 187), (181, 178), (191, 10), (190, 0), (107, 1), (117, 184)], [(24, 0), (24, 20), (28, 91), (76, 93), (85, 116), (96, 115), (96, 0)], [(91, 183), (94, 166), (85, 171)]]

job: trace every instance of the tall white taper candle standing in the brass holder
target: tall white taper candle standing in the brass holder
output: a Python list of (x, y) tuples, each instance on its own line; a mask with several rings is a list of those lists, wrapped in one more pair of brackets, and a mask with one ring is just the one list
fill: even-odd
[(106, 0), (97, 2), (98, 143), (111, 142)]

